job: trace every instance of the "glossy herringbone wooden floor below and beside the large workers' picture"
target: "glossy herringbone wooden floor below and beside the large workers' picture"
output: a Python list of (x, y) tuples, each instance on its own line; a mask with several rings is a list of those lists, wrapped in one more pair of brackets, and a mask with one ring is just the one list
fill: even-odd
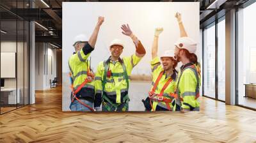
[(0, 116), (0, 142), (256, 142), (256, 112), (201, 98), (200, 112), (61, 111), (61, 88)]

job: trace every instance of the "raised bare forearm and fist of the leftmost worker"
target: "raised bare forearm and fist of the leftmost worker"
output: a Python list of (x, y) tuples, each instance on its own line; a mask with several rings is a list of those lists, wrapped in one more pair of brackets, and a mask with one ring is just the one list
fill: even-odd
[(100, 26), (101, 24), (104, 22), (104, 17), (98, 17), (98, 22), (93, 30), (92, 36), (90, 37), (88, 43), (90, 44), (90, 46), (92, 46), (93, 48), (95, 47), (95, 43), (97, 41), (97, 37), (98, 37), (98, 33), (100, 30)]

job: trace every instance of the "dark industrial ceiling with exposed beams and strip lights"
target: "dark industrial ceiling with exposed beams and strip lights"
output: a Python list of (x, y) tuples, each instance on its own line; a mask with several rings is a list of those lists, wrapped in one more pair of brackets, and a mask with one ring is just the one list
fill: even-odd
[[(106, 2), (109, 0), (69, 0), (72, 2), (99, 1)], [(111, 1), (111, 0), (110, 0)], [(112, 0), (115, 1), (115, 0)], [(123, 0), (128, 1), (128, 0)], [(135, 1), (135, 0), (134, 0)], [(146, 2), (146, 0), (140, 0)], [(225, 11), (234, 6), (239, 6), (248, 0), (147, 0), (150, 2), (200, 2), (200, 27), (205, 27), (214, 22), (216, 17), (225, 15)], [(216, 1), (216, 2), (214, 2)], [(51, 42), (61, 47), (62, 36), (62, 2), (68, 0), (1, 0), (0, 17), (1, 28), (6, 27), (5, 31), (16, 28), (15, 21), (18, 20), (35, 20), (35, 34), (38, 42)], [(136, 1), (137, 2), (137, 1)], [(218, 13), (216, 15), (216, 13)], [(19, 24), (18, 24), (19, 25)], [(41, 26), (40, 26), (41, 25)], [(18, 26), (19, 27), (19, 26)], [(26, 30), (26, 29), (25, 29)], [(23, 31), (19, 27), (17, 33)], [(13, 31), (13, 33), (16, 31)], [(1, 34), (2, 35), (2, 34)], [(19, 37), (19, 36), (18, 36)]]

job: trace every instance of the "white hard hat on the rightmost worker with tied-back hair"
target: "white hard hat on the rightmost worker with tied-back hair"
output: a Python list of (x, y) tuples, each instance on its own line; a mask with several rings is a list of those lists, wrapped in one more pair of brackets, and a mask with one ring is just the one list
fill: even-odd
[(175, 46), (177, 46), (179, 49), (186, 49), (190, 53), (196, 52), (196, 45), (196, 42), (188, 37), (181, 37), (175, 43)]

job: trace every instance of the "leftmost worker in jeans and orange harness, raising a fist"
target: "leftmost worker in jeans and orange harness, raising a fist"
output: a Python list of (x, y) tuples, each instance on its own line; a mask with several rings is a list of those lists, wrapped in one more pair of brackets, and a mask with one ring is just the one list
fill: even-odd
[(88, 57), (94, 50), (102, 22), (104, 22), (104, 17), (99, 17), (89, 40), (84, 34), (79, 34), (74, 38), (73, 46), (76, 52), (68, 60), (72, 84), (70, 103), (70, 110), (72, 111), (93, 111), (95, 96), (94, 75), (90, 69)]

